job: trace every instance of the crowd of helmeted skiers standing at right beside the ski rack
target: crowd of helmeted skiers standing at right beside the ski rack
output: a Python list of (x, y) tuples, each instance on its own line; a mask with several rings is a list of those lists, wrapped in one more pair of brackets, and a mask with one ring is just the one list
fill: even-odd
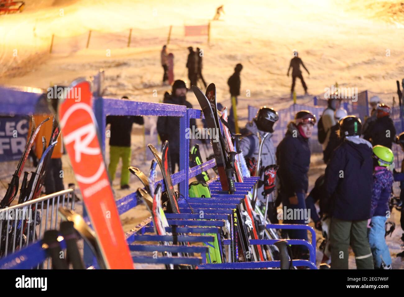
[[(279, 166), (278, 196), (270, 199), (269, 219), (272, 223), (278, 222), (276, 208), (281, 202), (288, 209), (310, 209), (316, 228), (322, 230), (327, 239), (322, 247), (323, 263), (330, 263), (335, 269), (348, 268), (349, 246), (355, 254), (358, 269), (391, 269), (385, 222), (391, 211), (393, 181), (400, 181), (400, 187), (404, 188), (404, 169), (402, 173), (393, 169), (391, 146), (396, 142), (404, 151), (404, 133), (396, 137), (389, 106), (381, 103), (378, 97), (372, 97), (370, 104), (371, 116), (362, 126), (359, 118), (349, 116), (346, 110), (339, 108), (339, 99), (328, 99), (328, 107), (318, 123), (327, 167), (308, 195), (309, 138), (317, 122), (313, 114), (307, 110), (297, 112), (276, 150), (270, 137), (262, 150), (263, 167)], [(242, 139), (241, 147), (248, 160), (258, 154), (257, 132), (261, 136), (274, 133), (277, 120), (275, 110), (261, 107), (255, 119), (246, 125), (249, 135)], [(404, 191), (401, 199), (403, 196)], [(263, 199), (262, 196), (259, 198)], [(314, 205), (316, 202), (320, 213)], [(307, 223), (303, 217), (284, 219), (283, 222)], [(403, 215), (400, 223), (404, 227)], [(307, 231), (290, 230), (288, 236), (307, 240)], [(308, 259), (308, 250), (303, 246), (295, 247), (293, 251), (296, 258)]]

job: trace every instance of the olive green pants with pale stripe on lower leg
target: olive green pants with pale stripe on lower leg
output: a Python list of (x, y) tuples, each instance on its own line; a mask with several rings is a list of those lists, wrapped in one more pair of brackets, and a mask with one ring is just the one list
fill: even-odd
[(373, 269), (367, 237), (368, 220), (344, 221), (332, 217), (330, 226), (331, 269), (348, 269), (349, 246), (355, 254), (357, 269)]

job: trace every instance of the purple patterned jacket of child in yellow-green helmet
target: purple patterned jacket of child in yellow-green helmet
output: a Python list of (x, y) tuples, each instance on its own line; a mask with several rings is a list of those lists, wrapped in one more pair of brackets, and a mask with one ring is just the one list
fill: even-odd
[(392, 185), (393, 173), (386, 167), (377, 166), (373, 174), (371, 217), (387, 215)]

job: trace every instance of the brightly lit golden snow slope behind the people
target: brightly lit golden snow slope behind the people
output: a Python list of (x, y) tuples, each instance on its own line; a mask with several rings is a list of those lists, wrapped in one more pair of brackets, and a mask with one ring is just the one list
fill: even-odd
[[(207, 24), (221, 4), (225, 15), (221, 21), (211, 22), (210, 44), (206, 36), (183, 36), (184, 25)], [(404, 72), (403, 16), (402, 3), (396, 0), (26, 1), (23, 13), (0, 16), (0, 84), (39, 88), (67, 85), (103, 68), (105, 95), (161, 101), (169, 87), (161, 86), (160, 50), (172, 25), (168, 52), (175, 56), (176, 79), (187, 80), (187, 47), (198, 46), (204, 52), (205, 80), (217, 85), (218, 102), (229, 105), (227, 78), (236, 63), (244, 65), (239, 97), (243, 124), (249, 104), (275, 109), (290, 105), (290, 100), (280, 98), (288, 98), (291, 78), (286, 72), (293, 49), (299, 51), (310, 72), (303, 76), (311, 94), (324, 93), (324, 88), (335, 82), (359, 91), (394, 93), (395, 81), (401, 80)], [(128, 48), (130, 28), (133, 32)], [(91, 39), (85, 48), (89, 30)], [(53, 53), (49, 54), (53, 34)], [(246, 97), (248, 91), (250, 97)], [(299, 81), (296, 91), (303, 93)], [(187, 98), (198, 106), (191, 93)], [(144, 162), (138, 157), (144, 150), (140, 133), (133, 137), (134, 165)], [(317, 160), (320, 156), (312, 158), (311, 186), (324, 170), (324, 164)], [(147, 164), (138, 166), (147, 171)], [(4, 167), (2, 176), (3, 171)], [(129, 194), (118, 190), (115, 183), (118, 198)], [(137, 186), (135, 181), (133, 185)], [(147, 216), (143, 206), (122, 216), (125, 231)], [(394, 253), (400, 250), (401, 232), (396, 230), (387, 239)], [(393, 261), (393, 268), (404, 268), (398, 259)]]

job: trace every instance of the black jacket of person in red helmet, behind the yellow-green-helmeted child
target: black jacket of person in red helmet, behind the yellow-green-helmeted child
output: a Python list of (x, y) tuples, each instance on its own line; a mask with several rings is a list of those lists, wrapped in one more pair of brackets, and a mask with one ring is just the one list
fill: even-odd
[(363, 138), (372, 142), (373, 146), (379, 144), (387, 146), (390, 149), (395, 137), (396, 128), (394, 127), (393, 120), (388, 116), (383, 116), (383, 118), (378, 118), (370, 123), (363, 135)]

